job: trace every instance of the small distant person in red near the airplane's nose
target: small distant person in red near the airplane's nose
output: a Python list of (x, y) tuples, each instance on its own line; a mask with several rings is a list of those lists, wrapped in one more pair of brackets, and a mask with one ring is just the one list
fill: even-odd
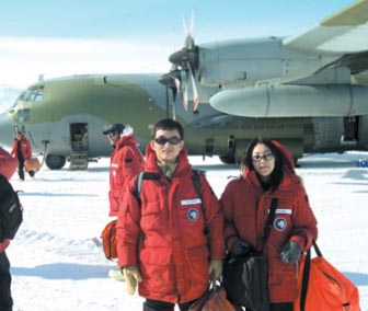
[[(24, 181), (24, 161), (31, 159), (32, 147), (28, 139), (26, 139), (22, 131), (16, 133), (13, 148), (10, 153), (18, 159), (18, 174), (20, 180)], [(34, 177), (35, 172), (28, 171), (28, 174), (31, 177)]]

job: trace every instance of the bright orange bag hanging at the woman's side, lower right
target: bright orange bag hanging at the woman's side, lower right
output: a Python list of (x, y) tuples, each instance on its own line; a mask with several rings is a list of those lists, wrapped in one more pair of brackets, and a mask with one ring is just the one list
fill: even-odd
[(300, 265), (298, 297), (295, 311), (360, 311), (357, 287), (323, 256), (313, 242), (317, 257), (310, 258), (310, 250)]

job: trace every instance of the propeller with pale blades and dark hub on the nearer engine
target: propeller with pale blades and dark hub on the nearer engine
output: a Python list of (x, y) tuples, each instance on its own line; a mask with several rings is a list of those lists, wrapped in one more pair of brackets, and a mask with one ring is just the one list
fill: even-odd
[(185, 31), (185, 41), (184, 47), (172, 55), (170, 55), (169, 60), (176, 67), (176, 69), (182, 69), (185, 72), (185, 83), (182, 83), (183, 88), (183, 105), (187, 110), (187, 99), (188, 99), (188, 85), (189, 80), (192, 84), (193, 91), (193, 112), (197, 112), (199, 104), (199, 95), (195, 81), (195, 71), (199, 68), (199, 55), (198, 55), (198, 46), (195, 45), (193, 28), (194, 28), (194, 18), (192, 14), (191, 20), (191, 30), (188, 31), (185, 21), (183, 20), (184, 31)]

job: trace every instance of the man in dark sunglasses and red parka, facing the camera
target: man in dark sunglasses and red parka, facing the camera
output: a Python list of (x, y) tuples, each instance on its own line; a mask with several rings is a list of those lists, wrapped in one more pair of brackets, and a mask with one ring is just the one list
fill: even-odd
[(154, 125), (146, 148), (147, 178), (139, 194), (137, 177), (129, 183), (118, 215), (118, 263), (128, 293), (138, 284), (145, 311), (172, 311), (176, 303), (188, 310), (209, 279), (222, 274), (223, 216), (203, 174), (197, 193), (183, 139), (176, 120)]

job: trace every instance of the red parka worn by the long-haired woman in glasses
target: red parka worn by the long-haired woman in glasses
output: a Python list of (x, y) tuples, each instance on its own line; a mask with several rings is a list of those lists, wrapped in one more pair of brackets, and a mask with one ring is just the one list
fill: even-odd
[[(284, 148), (281, 152), (288, 152)], [(291, 161), (289, 154), (285, 154)], [(291, 163), (290, 163), (291, 164)], [(222, 196), (225, 212), (225, 239), (231, 250), (239, 239), (254, 249), (262, 250), (262, 237), (272, 198), (277, 198), (277, 209), (269, 238), (263, 253), (268, 263), (268, 290), (271, 302), (290, 302), (296, 298), (298, 265), (284, 264), (279, 258), (280, 249), (288, 241), (297, 241), (301, 251), (307, 251), (317, 239), (315, 217), (300, 178), (287, 166), (279, 187), (264, 192), (255, 171), (246, 168), (243, 177), (231, 181)]]

